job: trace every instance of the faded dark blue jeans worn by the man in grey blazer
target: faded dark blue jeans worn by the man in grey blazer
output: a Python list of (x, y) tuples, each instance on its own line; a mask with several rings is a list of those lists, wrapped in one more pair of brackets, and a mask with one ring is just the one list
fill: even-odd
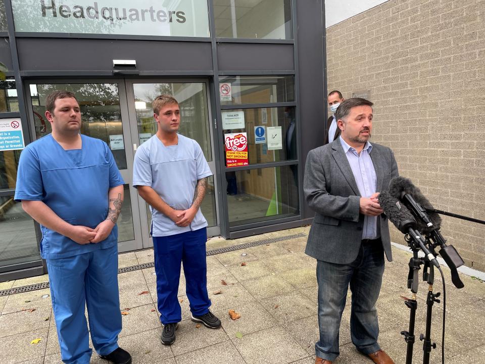
[(384, 272), (384, 252), (380, 239), (362, 242), (359, 255), (350, 264), (317, 261), (318, 325), (320, 340), (316, 355), (330, 361), (340, 354), (338, 330), (350, 285), (352, 342), (363, 354), (380, 349), (377, 344), (379, 324), (375, 303)]

